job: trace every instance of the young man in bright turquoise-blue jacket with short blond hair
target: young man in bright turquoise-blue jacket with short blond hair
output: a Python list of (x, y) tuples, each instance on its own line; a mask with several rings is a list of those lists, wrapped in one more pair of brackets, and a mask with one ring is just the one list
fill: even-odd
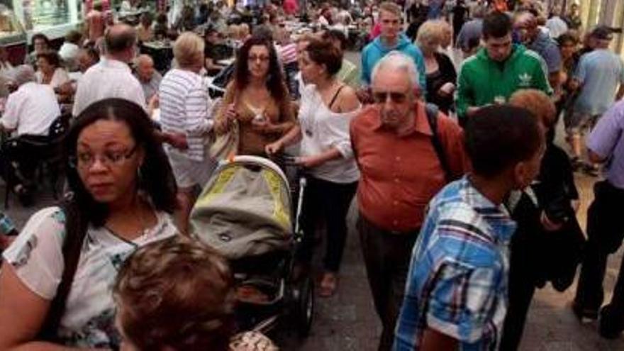
[(381, 35), (362, 50), (362, 84), (368, 87), (371, 84), (373, 67), (388, 52), (397, 50), (414, 60), (418, 69), (418, 85), (423, 93), (427, 91), (423, 53), (401, 32), (401, 8), (399, 5), (389, 1), (381, 3), (379, 5), (379, 23)]

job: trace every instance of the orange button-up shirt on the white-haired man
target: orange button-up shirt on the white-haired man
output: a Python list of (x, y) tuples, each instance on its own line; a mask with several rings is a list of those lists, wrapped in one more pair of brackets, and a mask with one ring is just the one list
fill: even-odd
[[(420, 228), (425, 207), (445, 186), (445, 173), (432, 143), (433, 133), (418, 102), (414, 129), (396, 135), (381, 125), (379, 108), (364, 108), (350, 126), (360, 184), (360, 213), (379, 228), (403, 233)], [(438, 117), (438, 138), (452, 177), (467, 169), (463, 132), (455, 121)]]

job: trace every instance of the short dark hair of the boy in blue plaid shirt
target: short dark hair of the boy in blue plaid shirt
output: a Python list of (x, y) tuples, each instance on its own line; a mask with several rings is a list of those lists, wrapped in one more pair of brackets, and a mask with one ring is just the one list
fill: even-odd
[(467, 121), (464, 143), (474, 174), (496, 177), (529, 160), (542, 145), (537, 118), (525, 108), (486, 106)]

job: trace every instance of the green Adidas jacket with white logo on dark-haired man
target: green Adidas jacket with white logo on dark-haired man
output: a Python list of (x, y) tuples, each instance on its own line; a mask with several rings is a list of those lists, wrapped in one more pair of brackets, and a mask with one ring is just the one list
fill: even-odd
[(538, 89), (552, 94), (546, 63), (536, 52), (513, 45), (511, 56), (499, 64), (489, 58), (485, 48), (464, 61), (457, 79), (456, 106), (459, 118), (471, 106), (508, 101), (518, 89)]

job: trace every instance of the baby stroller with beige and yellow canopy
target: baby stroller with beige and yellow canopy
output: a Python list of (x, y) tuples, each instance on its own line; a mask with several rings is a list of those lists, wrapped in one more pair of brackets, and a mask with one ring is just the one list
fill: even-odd
[[(305, 179), (299, 185), (301, 194)], [(192, 233), (230, 261), (241, 330), (267, 333), (279, 321), (294, 324), (301, 337), (310, 330), (314, 286), (310, 274), (293, 277), (302, 232), (301, 201), (292, 206), (292, 198), (274, 162), (237, 156), (218, 165), (191, 211)]]

